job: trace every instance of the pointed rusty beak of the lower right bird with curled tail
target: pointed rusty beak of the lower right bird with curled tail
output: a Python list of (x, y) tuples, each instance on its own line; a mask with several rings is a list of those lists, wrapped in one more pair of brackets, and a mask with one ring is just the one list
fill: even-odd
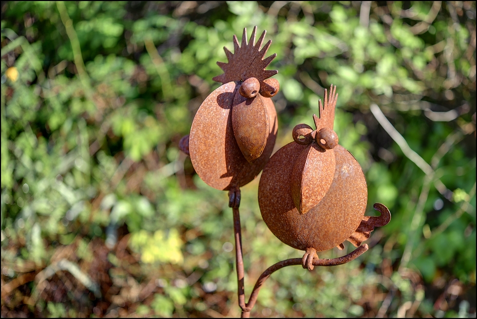
[(290, 175), (293, 202), (298, 212), (308, 213), (325, 197), (333, 182), (335, 155), (311, 143), (300, 153)]

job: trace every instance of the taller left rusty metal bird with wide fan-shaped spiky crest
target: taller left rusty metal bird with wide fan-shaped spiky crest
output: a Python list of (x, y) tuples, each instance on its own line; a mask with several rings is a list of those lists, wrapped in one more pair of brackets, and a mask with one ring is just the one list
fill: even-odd
[[(279, 85), (267, 78), (278, 71), (264, 68), (276, 54), (262, 60), (271, 41), (260, 48), (265, 31), (256, 44), (255, 35), (256, 27), (247, 42), (244, 29), (241, 45), (234, 36), (234, 53), (224, 48), (228, 63), (218, 63), (224, 74), (214, 78), (224, 84), (201, 104), (190, 129), (188, 151), (194, 169), (219, 190), (238, 192), (253, 180), (275, 145), (278, 121), (269, 97)], [(181, 140), (181, 149), (186, 144), (187, 138)], [(230, 204), (238, 207), (239, 203), (236, 197)]]

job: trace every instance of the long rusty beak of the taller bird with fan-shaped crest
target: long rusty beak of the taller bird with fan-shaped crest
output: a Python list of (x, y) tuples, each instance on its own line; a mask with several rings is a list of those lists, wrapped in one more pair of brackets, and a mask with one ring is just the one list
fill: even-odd
[[(242, 86), (247, 81), (243, 82)], [(235, 139), (249, 163), (254, 163), (262, 155), (270, 133), (270, 121), (263, 103), (265, 98), (257, 93), (258, 91), (256, 91), (255, 97), (249, 99), (241, 94), (236, 94), (232, 108), (232, 127)]]

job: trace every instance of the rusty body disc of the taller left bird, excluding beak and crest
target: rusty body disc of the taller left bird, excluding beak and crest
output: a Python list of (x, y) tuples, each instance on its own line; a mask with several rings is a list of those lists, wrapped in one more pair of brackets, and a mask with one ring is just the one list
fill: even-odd
[(249, 163), (242, 155), (232, 128), (232, 107), (238, 93), (236, 82), (214, 90), (199, 107), (189, 136), (190, 160), (199, 177), (218, 190), (231, 190), (253, 180), (265, 166), (275, 145), (278, 122), (270, 98), (263, 98), (269, 136), (262, 155)]

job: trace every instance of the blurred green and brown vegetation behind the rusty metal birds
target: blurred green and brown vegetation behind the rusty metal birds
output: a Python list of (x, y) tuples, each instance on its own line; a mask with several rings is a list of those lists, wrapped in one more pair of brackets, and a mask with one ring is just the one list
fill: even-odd
[[(324, 88), (392, 213), (252, 316), (475, 317), (475, 2), (2, 2), (3, 317), (238, 316), (232, 211), (178, 151), (242, 30), (272, 39), (276, 149)], [(242, 189), (246, 294), (302, 252)], [(346, 248), (352, 250), (349, 245)], [(345, 254), (336, 249), (322, 258)]]

